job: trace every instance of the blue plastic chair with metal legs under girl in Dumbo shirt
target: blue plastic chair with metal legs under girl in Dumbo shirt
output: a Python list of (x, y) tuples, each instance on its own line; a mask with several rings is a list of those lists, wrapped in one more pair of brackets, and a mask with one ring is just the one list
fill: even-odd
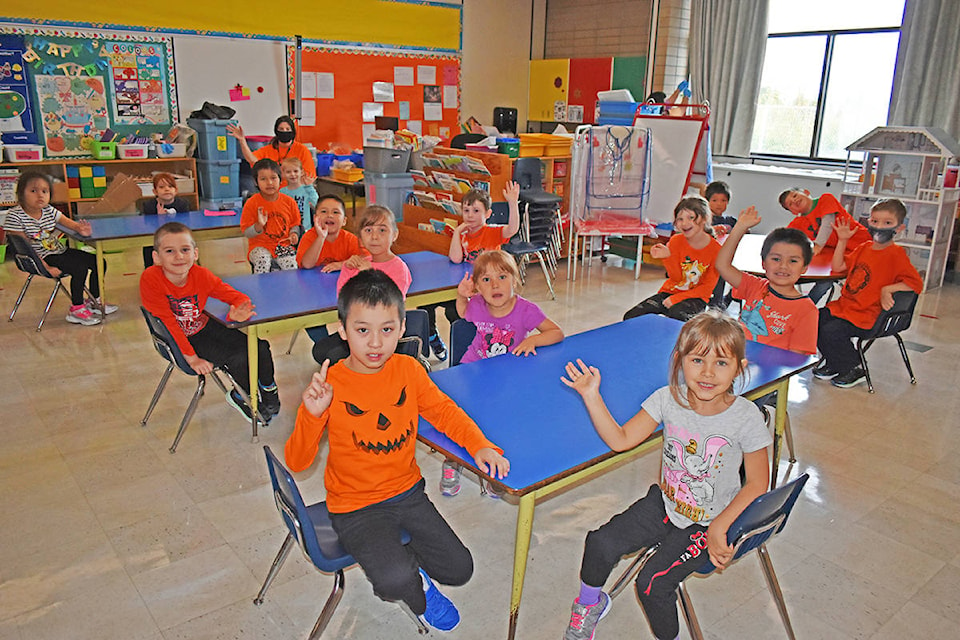
[[(793, 626), (790, 624), (790, 615), (787, 612), (787, 605), (783, 599), (783, 592), (780, 590), (780, 583), (777, 581), (777, 574), (773, 570), (773, 563), (770, 561), (766, 543), (786, 526), (790, 511), (800, 496), (800, 492), (803, 491), (803, 485), (809, 478), (809, 474), (805, 473), (796, 480), (758, 497), (743, 510), (743, 513), (734, 520), (727, 530), (727, 542), (733, 545), (734, 549), (731, 562), (736, 562), (739, 558), (756, 549), (757, 555), (760, 557), (763, 575), (767, 580), (767, 587), (776, 601), (780, 619), (783, 620), (787, 637), (791, 640), (794, 640), (796, 636), (793, 633)], [(623, 591), (627, 583), (635, 578), (636, 574), (643, 568), (644, 563), (655, 551), (656, 547), (646, 549), (633, 560), (610, 589), (611, 598)], [(709, 575), (715, 569), (716, 567), (707, 557), (706, 563), (695, 573)], [(690, 594), (687, 593), (687, 588), (683, 582), (677, 588), (677, 600), (680, 603), (681, 611), (683, 611), (690, 637), (694, 640), (703, 640), (703, 631), (700, 629), (700, 623), (693, 610)]]

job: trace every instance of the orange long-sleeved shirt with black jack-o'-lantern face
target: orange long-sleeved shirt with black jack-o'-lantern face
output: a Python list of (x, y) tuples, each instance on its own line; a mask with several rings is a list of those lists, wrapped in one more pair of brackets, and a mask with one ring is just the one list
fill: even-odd
[(324, 484), (332, 513), (383, 502), (420, 481), (415, 453), (421, 415), (470, 455), (484, 447), (502, 453), (414, 358), (394, 354), (373, 374), (351, 371), (341, 361), (327, 371), (327, 382), (333, 386), (330, 408), (318, 418), (300, 405), (285, 455), (287, 466), (303, 471), (327, 431)]

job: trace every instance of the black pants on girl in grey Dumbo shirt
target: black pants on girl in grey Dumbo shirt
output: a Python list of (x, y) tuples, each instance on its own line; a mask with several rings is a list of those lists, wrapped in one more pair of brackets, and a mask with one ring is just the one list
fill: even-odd
[(659, 486), (651, 485), (645, 497), (587, 534), (580, 579), (591, 587), (602, 587), (621, 557), (658, 543), (660, 548), (637, 576), (636, 588), (653, 634), (666, 640), (680, 632), (677, 585), (705, 565), (709, 555), (707, 528), (674, 526)]

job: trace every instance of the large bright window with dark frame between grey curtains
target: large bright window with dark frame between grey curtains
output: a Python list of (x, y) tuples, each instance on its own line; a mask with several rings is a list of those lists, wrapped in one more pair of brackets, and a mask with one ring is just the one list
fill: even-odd
[(904, 0), (770, 0), (750, 151), (841, 160), (887, 122)]

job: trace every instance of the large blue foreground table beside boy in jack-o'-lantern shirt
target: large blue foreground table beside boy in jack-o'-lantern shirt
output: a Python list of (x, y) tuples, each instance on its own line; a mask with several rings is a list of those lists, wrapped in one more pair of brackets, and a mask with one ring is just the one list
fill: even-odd
[[(648, 395), (667, 384), (670, 352), (681, 326), (663, 316), (641, 316), (540, 347), (536, 356), (504, 355), (431, 374), (510, 460), (510, 474), (493, 480), (520, 498), (509, 638), (516, 632), (537, 499), (660, 445), (658, 431), (630, 451), (611, 451), (594, 430), (579, 394), (560, 382), (564, 365), (581, 358), (600, 369), (604, 400), (622, 424), (640, 411)], [(776, 469), (790, 376), (813, 366), (816, 358), (748, 342), (747, 359), (746, 383), (737, 391), (751, 399), (778, 391)], [(479, 473), (465, 449), (425, 420), (420, 421), (418, 437)]]

